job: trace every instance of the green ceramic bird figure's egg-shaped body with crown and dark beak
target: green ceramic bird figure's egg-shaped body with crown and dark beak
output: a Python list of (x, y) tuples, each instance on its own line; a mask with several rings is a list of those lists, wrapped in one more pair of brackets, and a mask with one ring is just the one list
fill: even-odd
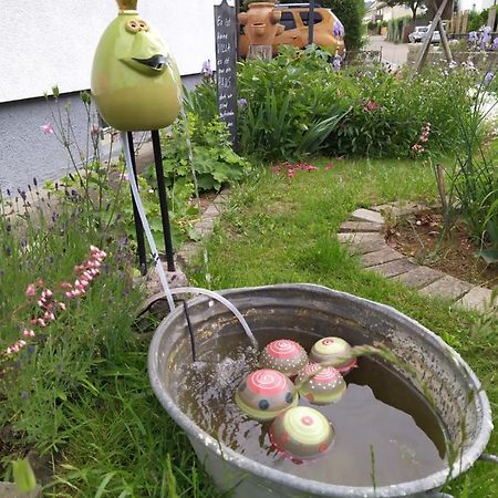
[(166, 43), (136, 11), (120, 12), (102, 35), (92, 68), (92, 94), (107, 124), (124, 132), (172, 124), (181, 105), (181, 82)]

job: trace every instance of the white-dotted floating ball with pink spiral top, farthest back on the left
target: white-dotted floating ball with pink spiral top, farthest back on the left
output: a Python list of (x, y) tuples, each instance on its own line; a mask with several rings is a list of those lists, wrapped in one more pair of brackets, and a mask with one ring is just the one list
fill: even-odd
[(308, 354), (295, 341), (280, 339), (270, 342), (259, 357), (261, 369), (272, 369), (284, 375), (297, 375), (308, 363)]

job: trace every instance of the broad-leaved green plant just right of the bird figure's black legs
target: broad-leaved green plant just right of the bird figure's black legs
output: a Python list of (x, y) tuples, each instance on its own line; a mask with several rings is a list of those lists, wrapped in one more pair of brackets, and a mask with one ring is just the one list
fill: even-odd
[(165, 180), (170, 187), (193, 186), (194, 167), (199, 190), (219, 190), (240, 180), (248, 163), (232, 151), (225, 123), (217, 118), (204, 123), (198, 115), (188, 113), (188, 127), (185, 121), (178, 121), (170, 133), (163, 135)]

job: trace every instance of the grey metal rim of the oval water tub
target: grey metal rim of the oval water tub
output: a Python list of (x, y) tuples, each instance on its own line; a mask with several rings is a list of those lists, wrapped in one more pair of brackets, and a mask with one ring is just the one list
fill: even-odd
[[(479, 458), (486, 448), (489, 440), (492, 423), (491, 423), (491, 408), (489, 400), (486, 393), (481, 388), (481, 384), (473, 370), (467, 365), (467, 363), (461, 359), (461, 356), (448, 344), (446, 344), (443, 339), (436, 335), (434, 332), (405, 315), (404, 313), (397, 311), (396, 309), (382, 304), (375, 301), (371, 301), (364, 298), (359, 298), (356, 295), (350, 294), (347, 292), (341, 292), (330, 289), (324, 286), (318, 286), (312, 283), (284, 283), (284, 284), (273, 284), (273, 286), (260, 286), (260, 287), (248, 287), (248, 288), (234, 288), (218, 291), (220, 294), (229, 298), (230, 294), (238, 293), (250, 293), (253, 291), (261, 290), (300, 290), (300, 291), (311, 291), (312, 293), (326, 293), (328, 295), (339, 297), (342, 299), (351, 300), (355, 303), (361, 303), (376, 312), (380, 313), (394, 313), (396, 318), (403, 319), (411, 325), (416, 326), (422, 333), (425, 334), (432, 345), (435, 347), (444, 347), (452, 353), (454, 361), (461, 367), (467, 374), (467, 378), (471, 383), (471, 387), (478, 393), (476, 396), (476, 403), (480, 406), (483, 412), (483, 425), (479, 430), (478, 437), (473, 442), (473, 444), (463, 452), (463, 456), (458, 458), (457, 463), (454, 465), (453, 469), (446, 468), (437, 473), (430, 474), (424, 478), (400, 483), (390, 486), (381, 486), (375, 490), (372, 487), (354, 487), (354, 486), (342, 486), (321, 483), (311, 479), (304, 479), (291, 474), (287, 474), (281, 470), (276, 470), (266, 465), (259, 464), (239, 453), (225, 446), (208, 433), (203, 430), (195, 422), (193, 422), (186, 414), (181, 412), (175, 401), (169, 396), (166, 390), (162, 387), (162, 382), (158, 372), (158, 350), (163, 336), (167, 333), (168, 325), (179, 315), (184, 313), (181, 307), (178, 307), (174, 312), (169, 313), (157, 326), (153, 340), (149, 345), (148, 351), (148, 374), (152, 387), (155, 395), (159, 400), (160, 404), (165, 411), (172, 416), (172, 418), (187, 433), (188, 437), (199, 439), (203, 442), (204, 446), (208, 450), (215, 453), (219, 458), (234, 465), (242, 471), (249, 471), (261, 479), (270, 480), (276, 484), (291, 487), (299, 491), (305, 491), (310, 494), (317, 494), (328, 497), (365, 497), (365, 498), (387, 498), (387, 497), (401, 497), (423, 494), (425, 491), (430, 491), (439, 488), (445, 483), (454, 479), (458, 475), (468, 470), (475, 461)], [(210, 298), (197, 297), (190, 300), (191, 304), (197, 304), (201, 302), (209, 302)], [(449, 476), (449, 474), (452, 475)]]

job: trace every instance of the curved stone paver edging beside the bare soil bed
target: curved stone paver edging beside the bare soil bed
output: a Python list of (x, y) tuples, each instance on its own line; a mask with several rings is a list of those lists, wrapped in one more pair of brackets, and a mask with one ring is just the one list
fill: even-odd
[(416, 208), (416, 205), (403, 204), (356, 209), (351, 214), (350, 219), (341, 225), (339, 240), (350, 245), (351, 251), (360, 256), (363, 267), (370, 271), (403, 282), (425, 295), (448, 299), (470, 310), (488, 310), (491, 305), (490, 289), (418, 266), (412, 258), (387, 246), (382, 234), (384, 217), (381, 211), (391, 210), (393, 215), (398, 216), (414, 211)]

